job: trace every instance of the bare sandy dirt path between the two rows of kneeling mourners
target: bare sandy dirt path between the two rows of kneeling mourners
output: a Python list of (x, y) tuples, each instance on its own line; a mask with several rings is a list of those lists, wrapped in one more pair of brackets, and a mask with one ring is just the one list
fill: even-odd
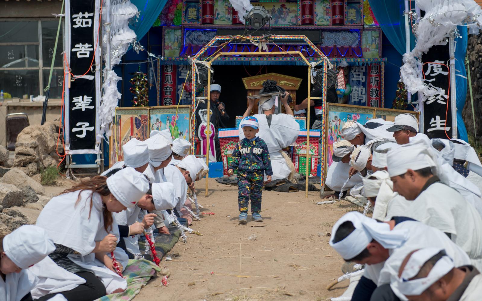
[[(151, 280), (134, 300), (320, 300), (338, 297), (348, 287), (326, 286), (342, 275), (341, 257), (329, 246), (331, 228), (344, 213), (361, 208), (347, 201), (315, 205), (318, 191), (263, 191), (263, 223), (237, 223), (238, 188), (209, 180), (196, 182), (204, 207), (191, 226), (202, 237), (187, 234), (162, 261), (171, 272), (169, 286)], [(251, 214), (248, 214), (248, 220)], [(249, 240), (255, 235), (255, 240)]]

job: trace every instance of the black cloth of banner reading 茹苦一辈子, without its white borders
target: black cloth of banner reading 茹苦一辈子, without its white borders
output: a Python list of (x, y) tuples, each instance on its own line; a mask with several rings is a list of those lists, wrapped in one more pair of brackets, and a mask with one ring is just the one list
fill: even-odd
[[(70, 72), (75, 78), (69, 88), (70, 150), (95, 148), (95, 0), (71, 0)], [(96, 51), (100, 51), (97, 49)], [(93, 63), (92, 63), (93, 62)], [(92, 63), (92, 67), (91, 67)], [(87, 73), (86, 73), (87, 72)], [(82, 76), (83, 75), (83, 76)]]

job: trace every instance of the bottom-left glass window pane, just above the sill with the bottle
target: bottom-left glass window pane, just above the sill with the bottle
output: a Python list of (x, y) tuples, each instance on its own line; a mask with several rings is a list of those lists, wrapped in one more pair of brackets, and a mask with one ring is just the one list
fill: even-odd
[(39, 70), (1, 70), (0, 89), (12, 97), (40, 94)]

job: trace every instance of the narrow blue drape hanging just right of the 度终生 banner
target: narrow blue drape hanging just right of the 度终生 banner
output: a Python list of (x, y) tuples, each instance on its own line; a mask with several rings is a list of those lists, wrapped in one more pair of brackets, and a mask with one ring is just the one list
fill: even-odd
[[(462, 119), (465, 99), (467, 97), (467, 71), (465, 70), (465, 53), (467, 50), (467, 27), (457, 26), (462, 38), (455, 39), (455, 93), (457, 105), (457, 137), (469, 142), (467, 129)], [(460, 75), (460, 76), (459, 76)], [(464, 77), (462, 77), (464, 76)]]

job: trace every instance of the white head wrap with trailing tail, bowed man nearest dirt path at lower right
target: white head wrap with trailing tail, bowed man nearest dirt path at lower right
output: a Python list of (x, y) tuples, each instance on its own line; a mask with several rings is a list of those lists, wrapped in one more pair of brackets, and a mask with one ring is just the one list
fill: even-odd
[[(353, 224), (355, 230), (346, 238), (338, 242), (333, 242), (338, 227), (347, 221)], [(373, 239), (385, 249), (395, 249), (405, 242), (408, 235), (409, 231), (407, 229), (390, 231), (390, 226), (387, 223), (379, 223), (362, 213), (352, 211), (343, 215), (335, 223), (335, 226), (333, 226), (330, 246), (332, 246), (343, 259), (349, 260), (365, 250)]]

